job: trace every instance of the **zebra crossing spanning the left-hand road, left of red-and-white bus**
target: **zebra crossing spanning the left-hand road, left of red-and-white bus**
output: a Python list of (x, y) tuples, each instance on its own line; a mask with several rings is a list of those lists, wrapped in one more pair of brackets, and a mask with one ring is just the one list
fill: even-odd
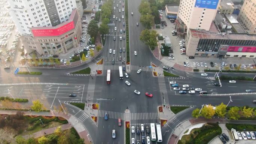
[(92, 76), (89, 78), (87, 94), (86, 94), (86, 102), (92, 103), (94, 98), (94, 91), (95, 91), (95, 83), (96, 83), (96, 76)]

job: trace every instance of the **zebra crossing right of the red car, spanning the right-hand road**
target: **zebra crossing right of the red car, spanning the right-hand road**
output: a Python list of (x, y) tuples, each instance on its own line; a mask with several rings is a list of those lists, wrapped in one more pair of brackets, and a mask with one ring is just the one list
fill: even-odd
[(170, 105), (168, 95), (167, 95), (167, 89), (165, 85), (165, 79), (164, 77), (158, 77), (157, 79), (158, 79), (158, 85), (160, 89), (160, 95), (161, 95), (160, 98), (161, 98), (162, 105)]

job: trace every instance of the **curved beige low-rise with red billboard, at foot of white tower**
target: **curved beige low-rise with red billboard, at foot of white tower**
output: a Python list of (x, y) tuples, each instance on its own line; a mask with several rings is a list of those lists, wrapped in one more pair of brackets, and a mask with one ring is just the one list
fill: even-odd
[(79, 46), (82, 22), (75, 8), (68, 21), (54, 27), (32, 27), (30, 31), (32, 36), (21, 36), (28, 53), (36, 50), (40, 55), (58, 55)]

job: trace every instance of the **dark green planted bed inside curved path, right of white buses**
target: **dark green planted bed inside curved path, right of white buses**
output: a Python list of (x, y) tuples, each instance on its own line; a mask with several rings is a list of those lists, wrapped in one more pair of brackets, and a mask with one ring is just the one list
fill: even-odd
[(208, 144), (221, 132), (221, 128), (217, 123), (207, 123), (201, 128), (192, 129), (189, 135), (183, 135), (178, 144)]

